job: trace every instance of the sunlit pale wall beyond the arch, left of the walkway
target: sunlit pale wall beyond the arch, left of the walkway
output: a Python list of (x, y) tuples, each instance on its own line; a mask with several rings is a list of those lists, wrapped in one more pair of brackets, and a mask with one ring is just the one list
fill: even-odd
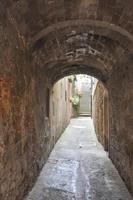
[(50, 123), (51, 133), (55, 142), (67, 127), (72, 117), (72, 83), (68, 77), (59, 80), (54, 84), (50, 96)]

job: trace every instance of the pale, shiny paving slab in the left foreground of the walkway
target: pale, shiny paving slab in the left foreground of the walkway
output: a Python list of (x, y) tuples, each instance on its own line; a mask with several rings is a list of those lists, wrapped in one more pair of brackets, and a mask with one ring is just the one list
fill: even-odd
[(78, 168), (74, 160), (48, 160), (41, 173), (43, 186), (75, 193)]

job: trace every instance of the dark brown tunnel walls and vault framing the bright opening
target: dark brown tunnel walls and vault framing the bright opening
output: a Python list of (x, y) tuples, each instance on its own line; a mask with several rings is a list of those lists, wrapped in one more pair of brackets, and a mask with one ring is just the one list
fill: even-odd
[(48, 89), (73, 73), (93, 75), (107, 87), (110, 157), (132, 191), (133, 1), (0, 5), (0, 183), (8, 185), (0, 198), (19, 199), (33, 184), (53, 147)]

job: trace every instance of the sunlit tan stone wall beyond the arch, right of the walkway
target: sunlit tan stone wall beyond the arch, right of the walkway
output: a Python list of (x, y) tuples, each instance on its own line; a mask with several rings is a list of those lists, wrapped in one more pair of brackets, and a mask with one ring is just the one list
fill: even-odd
[(97, 138), (108, 150), (108, 93), (101, 82), (97, 82), (92, 101), (92, 117)]

